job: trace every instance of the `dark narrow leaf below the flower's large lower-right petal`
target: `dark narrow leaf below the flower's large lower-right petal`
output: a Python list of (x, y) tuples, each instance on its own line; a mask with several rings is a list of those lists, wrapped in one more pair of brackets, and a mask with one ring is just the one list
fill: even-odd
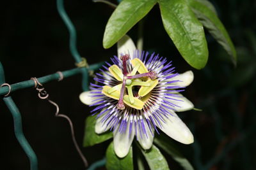
[(193, 166), (189, 163), (188, 159), (186, 159), (182, 153), (179, 152), (177, 146), (170, 138), (166, 138), (164, 136), (158, 136), (158, 138), (154, 138), (154, 143), (157, 146), (162, 148), (166, 153), (172, 156), (174, 160), (179, 162), (180, 166), (182, 166), (186, 170), (193, 170)]

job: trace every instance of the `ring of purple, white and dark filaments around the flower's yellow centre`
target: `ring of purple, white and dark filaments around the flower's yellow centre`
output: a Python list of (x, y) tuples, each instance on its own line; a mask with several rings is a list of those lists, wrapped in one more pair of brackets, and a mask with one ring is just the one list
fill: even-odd
[[(148, 72), (154, 71), (157, 75), (156, 79), (159, 81), (156, 87), (150, 92), (150, 97), (145, 102), (143, 109), (136, 110), (135, 108), (125, 106), (124, 110), (120, 110), (116, 107), (118, 100), (102, 94), (104, 85), (114, 87), (122, 83), (116, 80), (108, 71), (108, 67), (113, 64), (120, 67), (122, 71), (124, 70), (122, 60), (118, 59), (117, 56), (111, 58), (113, 64), (106, 62), (106, 66), (100, 69), (101, 74), (96, 73), (94, 80), (97, 81), (97, 83), (90, 84), (92, 97), (95, 97), (93, 100), (95, 103), (90, 106), (97, 106), (91, 113), (93, 113), (93, 115), (99, 113), (97, 118), (102, 117), (101, 122), (106, 125), (106, 128), (109, 127), (111, 131), (119, 131), (120, 133), (127, 132), (127, 128), (129, 128), (129, 134), (131, 134), (132, 127), (134, 127), (138, 139), (138, 135), (140, 135), (141, 138), (148, 138), (147, 129), (149, 129), (152, 136), (154, 136), (153, 128), (156, 129), (156, 132), (159, 134), (156, 127), (161, 128), (161, 124), (165, 124), (164, 119), (168, 118), (168, 115), (173, 116), (171, 112), (175, 111), (174, 107), (179, 106), (173, 104), (171, 101), (182, 101), (182, 97), (180, 97), (177, 92), (184, 91), (184, 87), (172, 85), (172, 83), (179, 80), (166, 81), (177, 76), (178, 73), (174, 73), (175, 67), (172, 67), (172, 61), (168, 62), (166, 58), (159, 57), (159, 55), (155, 55), (155, 53), (150, 55), (148, 52), (134, 51), (133, 55), (130, 55), (130, 59), (127, 60), (128, 73), (132, 71), (131, 60), (135, 58), (140, 59), (145, 64)], [(103, 85), (98, 85), (99, 83)], [(173, 97), (175, 97), (175, 99)], [(180, 99), (177, 99), (177, 97), (180, 97)]]

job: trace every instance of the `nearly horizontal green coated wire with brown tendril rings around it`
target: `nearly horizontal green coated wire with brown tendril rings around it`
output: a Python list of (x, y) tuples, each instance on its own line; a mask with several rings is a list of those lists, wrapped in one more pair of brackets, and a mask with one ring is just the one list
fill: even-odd
[[(88, 70), (97, 70), (99, 69), (99, 67), (102, 66), (102, 62), (99, 62), (97, 64), (92, 64), (90, 65), (90, 67), (88, 67), (88, 69), (86, 69), (85, 67), (82, 67), (82, 68), (75, 68), (75, 69), (69, 69), (67, 71), (63, 71), (62, 74), (63, 74), (63, 78), (67, 78), (69, 76), (74, 76), (76, 74), (79, 74), (83, 71), (83, 69), (86, 69), (86, 73), (88, 72)], [(43, 77), (40, 77), (38, 78), (38, 81), (42, 84), (44, 83), (47, 83), (49, 81), (53, 81), (53, 80), (59, 80), (60, 78), (60, 74), (58, 73), (54, 73), (54, 74), (49, 74), (47, 76), (43, 76)], [(87, 79), (83, 79), (83, 83), (84, 85), (88, 85), (88, 80)], [(20, 90), (20, 89), (26, 89), (26, 88), (29, 88), (29, 87), (34, 87), (35, 86), (35, 83), (33, 80), (27, 80), (27, 81), (21, 81), (19, 83), (15, 83), (15, 84), (12, 84), (11, 85), (11, 92), (14, 92), (16, 90)], [(0, 88), (0, 96), (1, 95), (4, 95), (4, 94), (7, 94), (9, 91), (9, 88), (7, 86), (4, 86), (4, 87), (1, 87)]]

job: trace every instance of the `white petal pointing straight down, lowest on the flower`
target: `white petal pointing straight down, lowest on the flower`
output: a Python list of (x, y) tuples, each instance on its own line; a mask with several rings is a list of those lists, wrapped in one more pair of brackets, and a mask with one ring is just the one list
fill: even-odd
[[(133, 126), (133, 125), (132, 125)], [(114, 150), (118, 157), (125, 157), (130, 150), (130, 146), (132, 144), (132, 140), (134, 138), (134, 126), (132, 127), (131, 136), (129, 136), (129, 127), (130, 123), (127, 125), (125, 132), (119, 132), (119, 128), (115, 129), (114, 133)]]

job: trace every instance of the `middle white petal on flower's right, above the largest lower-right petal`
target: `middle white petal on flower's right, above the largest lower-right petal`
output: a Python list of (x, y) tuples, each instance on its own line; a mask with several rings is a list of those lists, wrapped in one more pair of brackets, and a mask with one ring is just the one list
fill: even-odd
[[(179, 96), (179, 97), (176, 97)], [(176, 106), (173, 106), (173, 109), (175, 111), (187, 111), (194, 108), (194, 104), (191, 103), (186, 97), (182, 96), (180, 93), (175, 93), (175, 96), (168, 96), (171, 99), (164, 99), (172, 104), (175, 104)]]

